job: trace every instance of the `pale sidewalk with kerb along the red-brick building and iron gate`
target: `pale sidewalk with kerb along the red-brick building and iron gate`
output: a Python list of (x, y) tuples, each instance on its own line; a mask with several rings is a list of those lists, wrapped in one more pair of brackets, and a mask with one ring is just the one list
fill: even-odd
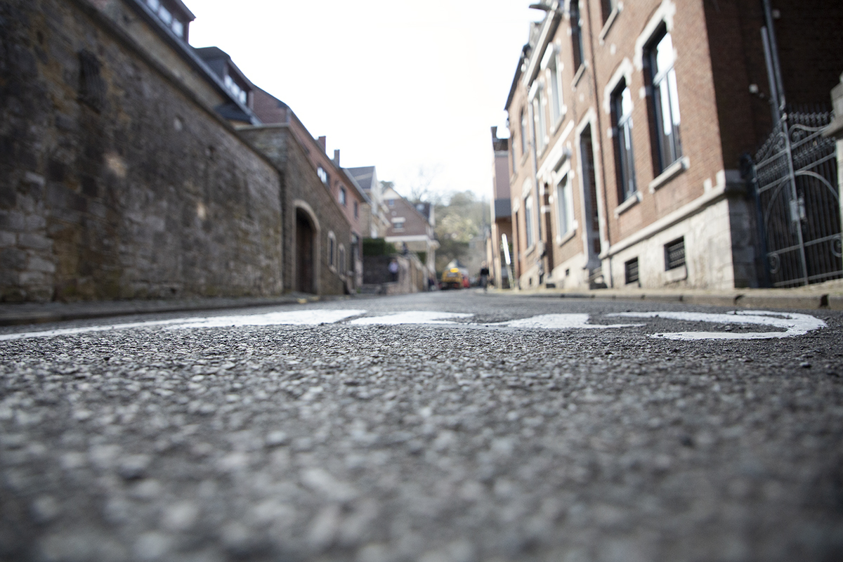
[[(498, 294), (507, 290), (496, 291)], [(785, 308), (802, 310), (843, 310), (843, 280), (826, 281), (816, 285), (790, 289), (593, 289), (573, 291), (565, 289), (522, 289), (513, 294), (534, 297), (594, 298), (613, 301), (685, 302), (738, 308)]]

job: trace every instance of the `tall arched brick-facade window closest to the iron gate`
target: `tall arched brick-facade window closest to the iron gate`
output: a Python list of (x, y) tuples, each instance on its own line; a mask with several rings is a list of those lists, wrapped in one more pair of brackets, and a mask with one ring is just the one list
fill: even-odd
[(679, 94), (674, 70), (674, 43), (664, 27), (652, 41), (648, 57), (652, 112), (656, 127), (658, 173), (682, 157), (679, 141)]

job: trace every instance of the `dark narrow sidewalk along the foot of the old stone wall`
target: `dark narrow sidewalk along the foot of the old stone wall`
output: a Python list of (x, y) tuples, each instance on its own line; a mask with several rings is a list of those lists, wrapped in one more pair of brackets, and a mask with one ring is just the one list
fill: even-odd
[(174, 313), (221, 308), (270, 307), (279, 304), (304, 304), (319, 300), (346, 297), (316, 297), (304, 293), (290, 293), (281, 297), (191, 298), (161, 301), (104, 301), (104, 302), (24, 302), (0, 304), (0, 326), (40, 324), (62, 320), (107, 318), (127, 314)]

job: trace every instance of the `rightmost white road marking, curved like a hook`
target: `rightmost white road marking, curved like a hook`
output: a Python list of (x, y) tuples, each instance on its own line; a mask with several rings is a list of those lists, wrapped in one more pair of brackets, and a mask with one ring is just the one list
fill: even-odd
[(624, 318), (670, 318), (690, 322), (711, 322), (716, 324), (760, 324), (783, 328), (783, 332), (667, 332), (653, 334), (654, 338), (666, 340), (771, 340), (805, 335), (813, 329), (825, 328), (828, 324), (819, 318), (799, 313), (774, 313), (767, 310), (736, 310), (726, 314), (716, 313), (614, 313), (606, 316)]

